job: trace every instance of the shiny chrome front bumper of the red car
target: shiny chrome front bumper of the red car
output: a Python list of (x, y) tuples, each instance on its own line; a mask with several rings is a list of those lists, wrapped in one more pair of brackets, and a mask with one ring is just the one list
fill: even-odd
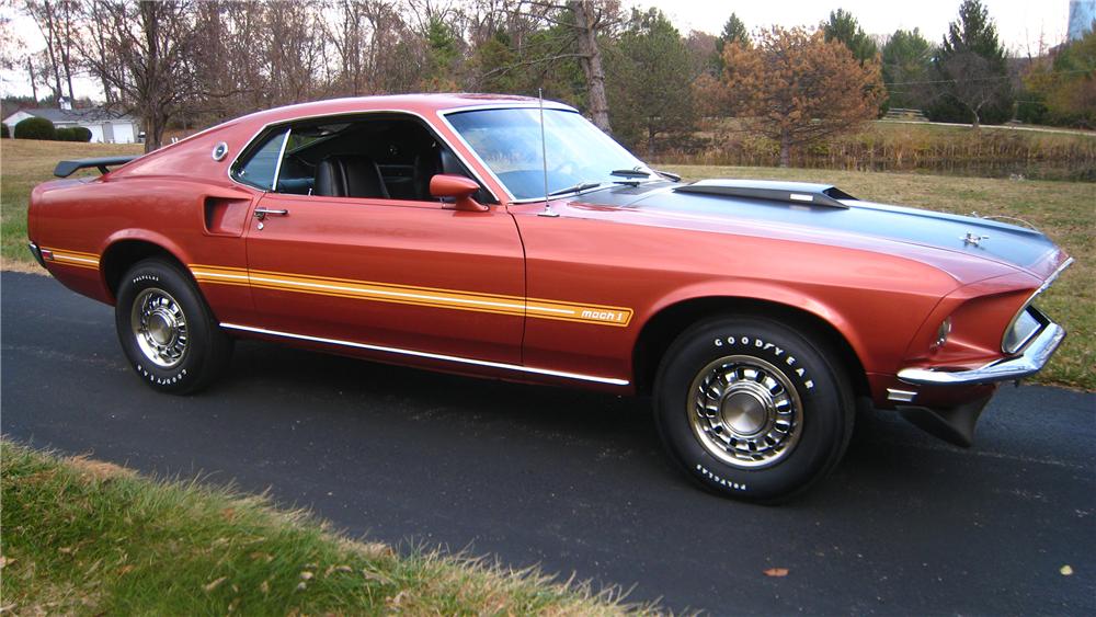
[(1062, 339), (1065, 339), (1065, 329), (1049, 322), (1017, 356), (991, 362), (971, 370), (903, 368), (898, 372), (898, 378), (917, 386), (977, 386), (994, 381), (1012, 381), (1039, 373), (1062, 343)]

